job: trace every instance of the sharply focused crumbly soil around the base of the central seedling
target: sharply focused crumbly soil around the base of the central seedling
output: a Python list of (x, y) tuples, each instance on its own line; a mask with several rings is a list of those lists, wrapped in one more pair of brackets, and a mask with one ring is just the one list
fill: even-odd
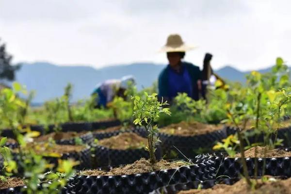
[(167, 162), (165, 160), (161, 160), (156, 162), (155, 164), (151, 164), (149, 160), (144, 158), (136, 161), (132, 164), (128, 164), (122, 167), (113, 168), (109, 172), (99, 171), (99, 170), (86, 170), (82, 171), (81, 174), (88, 176), (113, 176), (113, 175), (131, 175), (138, 173), (148, 173), (158, 170), (166, 170), (172, 168), (178, 168), (180, 166), (185, 165), (183, 162)]

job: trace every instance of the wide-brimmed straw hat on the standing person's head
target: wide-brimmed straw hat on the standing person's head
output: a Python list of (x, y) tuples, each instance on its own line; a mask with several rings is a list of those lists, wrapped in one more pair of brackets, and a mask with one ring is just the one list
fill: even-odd
[(186, 45), (179, 34), (170, 34), (160, 52), (186, 52), (197, 47)]

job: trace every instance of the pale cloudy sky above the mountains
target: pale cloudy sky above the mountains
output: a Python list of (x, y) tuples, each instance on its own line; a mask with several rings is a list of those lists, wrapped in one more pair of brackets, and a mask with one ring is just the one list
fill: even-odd
[[(198, 46), (185, 60), (214, 69), (291, 61), (290, 0), (0, 0), (0, 38), (14, 63), (167, 64), (171, 33)], [(289, 63), (290, 64), (290, 63)]]

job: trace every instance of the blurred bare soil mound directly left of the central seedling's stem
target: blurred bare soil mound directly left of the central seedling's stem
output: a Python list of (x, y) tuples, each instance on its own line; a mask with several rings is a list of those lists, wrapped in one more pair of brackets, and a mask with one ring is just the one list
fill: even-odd
[(100, 140), (98, 145), (111, 149), (140, 149), (146, 147), (147, 139), (133, 132), (125, 132), (119, 135)]

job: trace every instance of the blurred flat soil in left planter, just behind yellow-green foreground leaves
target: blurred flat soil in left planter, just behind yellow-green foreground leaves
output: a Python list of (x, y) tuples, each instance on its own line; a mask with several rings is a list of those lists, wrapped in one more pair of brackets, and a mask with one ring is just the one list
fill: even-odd
[[(36, 154), (43, 156), (53, 156), (54, 154), (65, 154), (71, 152), (81, 152), (86, 146), (75, 146), (75, 145), (58, 145), (51, 143), (30, 143), (27, 146), (31, 147)], [(18, 148), (14, 149), (18, 152)]]

